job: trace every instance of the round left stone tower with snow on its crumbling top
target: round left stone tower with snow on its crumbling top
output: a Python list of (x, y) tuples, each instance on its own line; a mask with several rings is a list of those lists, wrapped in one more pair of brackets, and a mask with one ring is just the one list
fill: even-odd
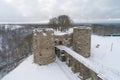
[(55, 60), (54, 47), (52, 30), (34, 30), (33, 53), (35, 63), (40, 65), (52, 63)]

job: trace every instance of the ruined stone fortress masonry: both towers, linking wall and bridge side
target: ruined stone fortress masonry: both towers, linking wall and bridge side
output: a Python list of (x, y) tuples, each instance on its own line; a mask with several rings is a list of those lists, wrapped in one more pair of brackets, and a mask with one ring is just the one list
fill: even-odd
[(90, 57), (90, 43), (90, 27), (74, 28), (72, 34), (62, 36), (53, 35), (53, 31), (49, 29), (37, 29), (33, 36), (34, 62), (40, 65), (49, 64), (55, 60), (54, 53), (56, 53), (58, 58), (63, 62), (65, 61), (74, 73), (80, 72), (79, 77), (81, 80), (86, 80), (90, 77), (92, 80), (101, 80), (95, 72), (75, 60), (67, 52), (61, 51), (55, 47), (57, 45), (71, 47), (78, 54), (88, 58)]

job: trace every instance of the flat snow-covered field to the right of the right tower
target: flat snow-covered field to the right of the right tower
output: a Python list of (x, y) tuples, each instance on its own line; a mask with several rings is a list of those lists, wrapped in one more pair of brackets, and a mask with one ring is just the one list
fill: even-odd
[(91, 44), (90, 60), (120, 75), (120, 37), (92, 35)]

